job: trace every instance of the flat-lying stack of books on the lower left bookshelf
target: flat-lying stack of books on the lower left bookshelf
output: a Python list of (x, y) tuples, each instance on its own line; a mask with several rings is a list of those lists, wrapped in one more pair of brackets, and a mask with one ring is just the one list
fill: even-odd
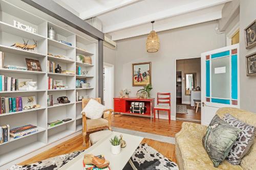
[(37, 126), (34, 125), (25, 125), (22, 127), (14, 128), (10, 130), (10, 136), (13, 137), (14, 139), (35, 133), (38, 131)]

